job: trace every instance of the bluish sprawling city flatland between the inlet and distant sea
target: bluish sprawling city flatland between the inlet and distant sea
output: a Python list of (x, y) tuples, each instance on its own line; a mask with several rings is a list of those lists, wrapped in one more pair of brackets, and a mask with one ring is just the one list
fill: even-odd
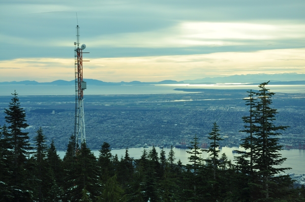
[[(207, 139), (214, 122), (220, 126), (224, 139), (221, 146), (238, 146), (247, 136), (240, 132), (245, 125), (242, 117), (249, 115), (243, 97), (210, 94), (164, 94), (87, 96), (85, 100), (86, 142), (90, 148), (100, 148), (108, 142), (112, 148), (188, 146), (197, 134), (200, 146), (209, 145)], [(224, 96), (223, 96), (224, 97)], [(285, 99), (284, 99), (284, 98)], [(284, 149), (305, 149), (305, 107), (303, 98), (289, 99), (281, 94), (273, 100), (278, 109), (276, 125), (290, 126), (279, 136)], [(301, 96), (299, 96), (301, 97)], [(208, 98), (208, 99), (207, 99)], [(214, 99), (210, 99), (214, 98)], [(26, 109), (30, 136), (42, 127), (48, 140), (55, 140), (56, 148), (66, 149), (74, 132), (73, 97), (26, 97), (21, 106)], [(0, 125), (4, 123), (4, 108), (0, 101)], [(23, 98), (20, 97), (22, 102)]]

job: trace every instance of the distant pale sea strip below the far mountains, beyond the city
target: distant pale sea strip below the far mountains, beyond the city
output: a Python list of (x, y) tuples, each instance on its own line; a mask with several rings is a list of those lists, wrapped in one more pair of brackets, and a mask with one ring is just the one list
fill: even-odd
[[(14, 91), (19, 95), (75, 95), (75, 86), (56, 85), (1, 85), (0, 96), (10, 96)], [(84, 90), (85, 95), (125, 95), (125, 94), (172, 94), (187, 93), (174, 89), (245, 89), (258, 90), (257, 85), (123, 85), (90, 86)], [(268, 85), (271, 92), (305, 93), (305, 85)]]

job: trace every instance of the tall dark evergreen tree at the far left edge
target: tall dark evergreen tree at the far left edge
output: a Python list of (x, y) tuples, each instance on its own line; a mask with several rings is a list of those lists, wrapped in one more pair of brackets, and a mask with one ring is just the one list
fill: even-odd
[(16, 91), (12, 95), (12, 102), (9, 108), (5, 109), (5, 120), (8, 123), (7, 140), (13, 154), (10, 159), (12, 175), (8, 187), (12, 192), (12, 201), (29, 201), (32, 196), (26, 182), (25, 167), (28, 151), (33, 147), (29, 144), (28, 133), (22, 131), (28, 127), (25, 111), (20, 106)]

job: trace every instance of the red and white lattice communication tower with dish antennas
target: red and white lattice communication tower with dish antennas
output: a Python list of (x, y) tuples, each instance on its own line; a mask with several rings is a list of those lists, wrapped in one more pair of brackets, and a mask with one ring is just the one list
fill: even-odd
[(83, 60), (82, 54), (86, 45), (79, 47), (79, 26), (76, 26), (76, 41), (74, 42), (74, 60), (75, 60), (75, 124), (74, 136), (76, 140), (76, 149), (81, 146), (82, 142), (86, 141), (85, 133), (85, 118), (84, 118), (84, 94), (83, 91), (87, 88), (86, 82), (83, 80)]

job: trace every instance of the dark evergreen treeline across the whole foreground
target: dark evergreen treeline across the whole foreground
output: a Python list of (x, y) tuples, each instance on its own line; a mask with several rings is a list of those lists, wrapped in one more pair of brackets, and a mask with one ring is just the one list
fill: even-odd
[[(209, 133), (208, 149), (199, 148), (194, 135), (189, 164), (176, 160), (173, 149), (158, 153), (153, 146), (133, 159), (126, 149), (118, 158), (110, 145), (101, 145), (99, 157), (85, 142), (76, 145), (70, 137), (63, 159), (54, 142), (48, 146), (42, 129), (34, 145), (29, 144), (25, 112), (17, 93), (5, 109), (8, 126), (1, 128), (0, 198), (1, 201), (305, 201), (305, 187), (293, 188), (289, 168), (278, 144), (280, 131), (275, 126), (276, 109), (271, 108), (270, 93), (261, 84), (249, 92), (249, 116), (242, 117), (249, 136), (242, 140), (245, 151), (238, 151), (235, 164), (225, 154), (219, 156), (222, 140), (217, 123)], [(207, 151), (209, 157), (201, 158)]]

